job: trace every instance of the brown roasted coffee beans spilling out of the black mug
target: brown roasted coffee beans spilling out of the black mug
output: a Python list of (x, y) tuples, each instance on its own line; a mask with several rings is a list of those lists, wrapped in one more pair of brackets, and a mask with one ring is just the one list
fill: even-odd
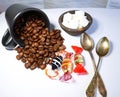
[(56, 57), (55, 53), (66, 48), (61, 31), (58, 29), (49, 31), (37, 16), (20, 18), (14, 30), (25, 45), (15, 48), (18, 53), (16, 58), (21, 60), (27, 69), (45, 69)]

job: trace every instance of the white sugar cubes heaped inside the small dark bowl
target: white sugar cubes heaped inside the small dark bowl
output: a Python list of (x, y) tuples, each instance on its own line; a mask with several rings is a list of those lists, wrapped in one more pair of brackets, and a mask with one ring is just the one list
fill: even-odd
[(66, 13), (63, 16), (62, 24), (71, 29), (81, 29), (89, 24), (84, 11), (75, 11), (75, 14)]

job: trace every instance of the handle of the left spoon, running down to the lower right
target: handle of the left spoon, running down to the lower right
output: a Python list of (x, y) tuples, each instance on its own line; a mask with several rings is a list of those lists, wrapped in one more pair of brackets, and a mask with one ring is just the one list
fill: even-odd
[[(89, 54), (92, 59), (94, 70), (96, 70), (96, 65), (95, 65), (95, 60), (94, 60), (93, 54), (92, 54), (92, 52), (89, 52)], [(97, 85), (98, 85), (98, 90), (99, 90), (100, 94), (102, 95), (102, 97), (107, 97), (107, 90), (105, 88), (104, 82), (103, 82), (99, 72), (97, 72)]]

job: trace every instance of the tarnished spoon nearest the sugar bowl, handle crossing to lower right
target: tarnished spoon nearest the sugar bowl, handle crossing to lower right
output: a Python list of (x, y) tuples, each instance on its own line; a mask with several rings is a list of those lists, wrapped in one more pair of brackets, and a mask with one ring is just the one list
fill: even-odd
[[(87, 33), (83, 33), (83, 34), (81, 34), (81, 37), (80, 37), (80, 43), (81, 43), (81, 46), (83, 47), (83, 49), (87, 50), (89, 52), (93, 66), (94, 66), (94, 70), (96, 71), (96, 64), (95, 64), (95, 60), (94, 60), (94, 57), (92, 54), (92, 49), (94, 48), (94, 42), (93, 42), (92, 38)], [(106, 91), (104, 82), (99, 73), (97, 74), (97, 84), (98, 84), (98, 89), (99, 89), (100, 94), (104, 97), (104, 95), (107, 94), (107, 91)], [(93, 90), (93, 92), (95, 93), (95, 91), (94, 91), (95, 87), (93, 87), (93, 89), (91, 89), (91, 90)], [(86, 92), (88, 94), (89, 90)]]

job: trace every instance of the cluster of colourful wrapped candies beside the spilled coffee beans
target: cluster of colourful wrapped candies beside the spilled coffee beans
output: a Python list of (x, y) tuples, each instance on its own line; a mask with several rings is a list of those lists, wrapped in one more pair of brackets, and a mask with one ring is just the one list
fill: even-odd
[[(83, 49), (78, 46), (71, 46), (75, 53), (67, 52), (61, 50), (56, 53), (56, 58), (53, 59), (53, 62), (50, 64), (51, 69), (46, 69), (45, 74), (51, 78), (59, 79), (62, 82), (66, 82), (72, 79), (72, 73), (78, 75), (88, 74), (87, 70), (84, 68), (84, 59), (81, 55)], [(59, 72), (63, 72), (60, 75)]]

